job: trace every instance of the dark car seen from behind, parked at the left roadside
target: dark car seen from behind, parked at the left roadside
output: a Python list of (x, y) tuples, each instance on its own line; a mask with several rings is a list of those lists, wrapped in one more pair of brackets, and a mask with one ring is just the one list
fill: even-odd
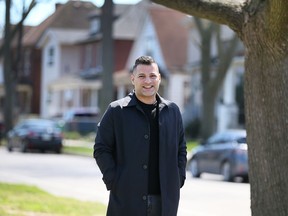
[(61, 153), (62, 131), (54, 121), (27, 119), (17, 124), (7, 135), (8, 151), (19, 148), (22, 152), (37, 149)]

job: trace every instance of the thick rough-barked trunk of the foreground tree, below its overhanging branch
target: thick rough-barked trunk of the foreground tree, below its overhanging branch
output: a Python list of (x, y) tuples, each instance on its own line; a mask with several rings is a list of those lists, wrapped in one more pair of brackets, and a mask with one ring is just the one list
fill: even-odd
[(277, 39), (277, 32), (263, 31), (265, 15), (257, 20), (246, 27), (244, 38), (252, 215), (287, 216), (287, 34)]

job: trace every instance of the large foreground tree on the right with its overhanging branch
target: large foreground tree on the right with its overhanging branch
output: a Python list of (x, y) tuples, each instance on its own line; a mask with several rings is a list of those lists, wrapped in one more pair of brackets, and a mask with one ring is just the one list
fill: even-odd
[(245, 115), (252, 216), (288, 215), (286, 0), (154, 0), (225, 24), (245, 46)]

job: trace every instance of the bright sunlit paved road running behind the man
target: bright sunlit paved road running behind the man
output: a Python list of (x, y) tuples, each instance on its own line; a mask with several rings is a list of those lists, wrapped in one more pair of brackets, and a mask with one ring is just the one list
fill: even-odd
[[(36, 185), (54, 195), (107, 204), (108, 192), (93, 158), (8, 153), (0, 148), (0, 181)], [(250, 216), (249, 184), (204, 175), (181, 190), (178, 216)]]

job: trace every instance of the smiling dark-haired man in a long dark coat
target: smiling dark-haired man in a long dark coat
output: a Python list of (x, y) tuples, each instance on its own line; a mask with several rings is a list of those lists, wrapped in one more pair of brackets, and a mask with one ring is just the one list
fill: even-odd
[(94, 158), (110, 190), (108, 216), (176, 216), (186, 141), (177, 105), (157, 93), (150, 56), (135, 61), (134, 91), (112, 102), (98, 125)]

